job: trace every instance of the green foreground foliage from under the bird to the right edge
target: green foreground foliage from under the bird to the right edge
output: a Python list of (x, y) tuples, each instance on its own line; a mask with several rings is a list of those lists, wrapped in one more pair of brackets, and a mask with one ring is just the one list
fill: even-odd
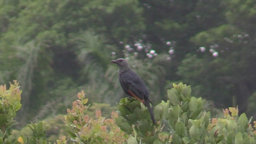
[[(130, 134), (132, 144), (174, 143), (174, 144), (254, 144), (255, 126), (250, 124), (245, 113), (238, 116), (238, 108), (223, 110), (224, 118), (211, 118), (210, 112), (203, 110), (205, 100), (191, 96), (190, 86), (173, 84), (168, 90), (167, 102), (162, 101), (154, 108), (156, 120), (161, 125), (167, 122), (168, 132), (160, 134), (162, 128), (154, 128), (150, 116), (138, 101), (128, 98), (120, 100), (118, 110), (121, 118), (116, 118), (118, 126)], [(231, 114), (229, 114), (229, 112)], [(256, 124), (254, 122), (254, 124)], [(160, 137), (161, 135), (161, 137)], [(128, 139), (128, 144), (129, 144)]]

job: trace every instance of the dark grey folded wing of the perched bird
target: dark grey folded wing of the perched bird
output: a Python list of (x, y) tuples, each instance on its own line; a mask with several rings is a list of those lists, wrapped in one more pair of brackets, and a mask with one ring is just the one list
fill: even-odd
[[(148, 99), (148, 89), (143, 80), (132, 70), (124, 72), (121, 76), (123, 85), (126, 86), (126, 93), (139, 99), (141, 102)], [(143, 102), (144, 103), (144, 102)]]

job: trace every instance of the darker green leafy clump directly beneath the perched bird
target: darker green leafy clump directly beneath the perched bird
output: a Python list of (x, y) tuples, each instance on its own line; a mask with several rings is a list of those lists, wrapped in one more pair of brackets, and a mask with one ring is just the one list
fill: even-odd
[[(142, 103), (133, 98), (122, 98), (118, 104), (118, 110), (122, 117), (115, 118), (116, 124), (121, 130), (126, 132), (126, 134), (130, 134), (129, 139), (135, 139), (150, 144), (160, 140), (159, 132), (162, 131), (162, 129), (160, 127), (155, 129), (150, 114)], [(156, 114), (156, 111), (154, 112)], [(158, 116), (155, 116), (156, 120), (163, 120), (161, 110), (158, 110), (157, 114)], [(167, 138), (164, 138), (163, 141), (167, 140)]]

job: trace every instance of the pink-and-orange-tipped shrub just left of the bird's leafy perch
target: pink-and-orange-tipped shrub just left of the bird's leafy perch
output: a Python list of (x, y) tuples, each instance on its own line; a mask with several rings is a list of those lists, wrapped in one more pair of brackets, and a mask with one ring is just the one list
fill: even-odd
[[(65, 127), (70, 134), (70, 140), (76, 144), (81, 143), (123, 143), (127, 135), (122, 132), (114, 122), (118, 118), (116, 112), (112, 112), (112, 118), (102, 117), (100, 110), (96, 110), (95, 118), (90, 118), (85, 113), (88, 106), (85, 104), (88, 98), (85, 98), (84, 92), (78, 93), (78, 100), (73, 102), (72, 109), (68, 109), (65, 115)], [(64, 137), (57, 140), (58, 144), (66, 144)]]

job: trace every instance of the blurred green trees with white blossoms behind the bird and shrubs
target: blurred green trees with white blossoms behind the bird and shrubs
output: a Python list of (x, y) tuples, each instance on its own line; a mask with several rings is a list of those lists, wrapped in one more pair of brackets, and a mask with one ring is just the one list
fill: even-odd
[(154, 105), (182, 81), (210, 108), (238, 105), (255, 118), (255, 6), (254, 0), (0, 0), (0, 83), (20, 81), (18, 126), (66, 113), (80, 90), (112, 110), (125, 95), (109, 61), (125, 57)]

